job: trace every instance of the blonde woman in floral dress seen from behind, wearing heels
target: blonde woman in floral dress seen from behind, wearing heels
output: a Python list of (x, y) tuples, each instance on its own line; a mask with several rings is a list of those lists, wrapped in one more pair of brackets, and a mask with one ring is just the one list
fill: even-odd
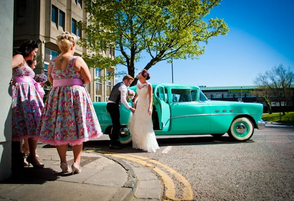
[(61, 54), (48, 66), (49, 92), (40, 125), (40, 141), (55, 145), (63, 173), (70, 172), (66, 152), (72, 146), (74, 163), (72, 173), (80, 173), (83, 142), (102, 135), (90, 96), (83, 86), (91, 82), (85, 61), (73, 56), (76, 36), (63, 32), (56, 43)]

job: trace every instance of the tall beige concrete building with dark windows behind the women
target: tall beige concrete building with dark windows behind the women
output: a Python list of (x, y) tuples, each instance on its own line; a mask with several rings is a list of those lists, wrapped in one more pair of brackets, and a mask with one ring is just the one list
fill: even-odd
[[(84, 37), (81, 29), (77, 28), (79, 21), (86, 22), (87, 12), (82, 0), (14, 0), (14, 34), (13, 47), (18, 48), (26, 40), (39, 42), (37, 53), (36, 74), (45, 73), (49, 61), (61, 52), (56, 45), (56, 36), (68, 31), (77, 36)], [(75, 55), (82, 56), (89, 53), (86, 48), (76, 45)], [(105, 50), (98, 52), (105, 57), (114, 58), (115, 51)], [(110, 90), (114, 85), (114, 78), (102, 80), (114, 71), (109, 69), (93, 69), (89, 66), (92, 81), (87, 90), (92, 101), (107, 101)]]

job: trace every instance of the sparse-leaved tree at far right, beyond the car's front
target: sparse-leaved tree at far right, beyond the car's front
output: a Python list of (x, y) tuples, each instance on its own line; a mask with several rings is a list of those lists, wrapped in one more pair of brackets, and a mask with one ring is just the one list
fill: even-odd
[(279, 102), (280, 111), (283, 112), (283, 115), (285, 115), (285, 109), (282, 102), (285, 103), (284, 105), (293, 102), (293, 90), (291, 89), (293, 82), (294, 73), (290, 70), (290, 67), (286, 69), (282, 64), (266, 71), (265, 74), (258, 74), (254, 80), (255, 84), (265, 88), (263, 97), (267, 98), (268, 101)]

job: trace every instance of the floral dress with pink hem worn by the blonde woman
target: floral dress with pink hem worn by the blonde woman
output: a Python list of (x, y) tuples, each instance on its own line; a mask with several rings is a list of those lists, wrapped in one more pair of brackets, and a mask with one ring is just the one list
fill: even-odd
[[(51, 60), (53, 79), (81, 78), (71, 57), (67, 69), (55, 69)], [(40, 140), (50, 145), (79, 145), (102, 135), (94, 106), (84, 86), (53, 86), (45, 104), (40, 125)]]

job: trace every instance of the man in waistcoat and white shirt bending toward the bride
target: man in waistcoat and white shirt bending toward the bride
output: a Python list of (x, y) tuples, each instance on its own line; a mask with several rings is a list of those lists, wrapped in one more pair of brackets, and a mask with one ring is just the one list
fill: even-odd
[(106, 109), (110, 114), (112, 120), (112, 131), (110, 138), (110, 149), (120, 150), (122, 145), (119, 139), (119, 132), (121, 128), (120, 122), (120, 106), (121, 102), (123, 105), (130, 109), (132, 112), (135, 112), (135, 109), (132, 108), (126, 101), (127, 87), (130, 86), (134, 78), (131, 75), (125, 75), (123, 81), (117, 83), (111, 90), (110, 96), (107, 101)]

